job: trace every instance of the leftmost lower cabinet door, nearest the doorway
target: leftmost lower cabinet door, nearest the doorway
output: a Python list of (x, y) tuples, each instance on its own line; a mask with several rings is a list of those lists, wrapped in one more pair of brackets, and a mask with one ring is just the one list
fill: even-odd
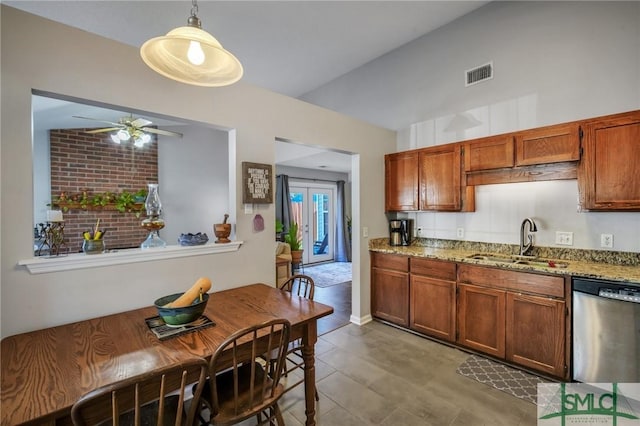
[(371, 269), (371, 314), (404, 327), (409, 326), (409, 274)]

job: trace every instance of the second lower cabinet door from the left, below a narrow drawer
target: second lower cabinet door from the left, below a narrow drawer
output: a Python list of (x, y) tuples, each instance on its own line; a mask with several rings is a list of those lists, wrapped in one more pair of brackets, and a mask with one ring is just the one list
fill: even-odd
[(456, 283), (411, 275), (409, 327), (449, 342), (456, 340)]

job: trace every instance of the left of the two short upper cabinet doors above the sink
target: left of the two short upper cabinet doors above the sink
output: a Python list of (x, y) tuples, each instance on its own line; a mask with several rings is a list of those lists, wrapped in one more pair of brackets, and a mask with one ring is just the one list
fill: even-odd
[(513, 136), (500, 135), (476, 139), (465, 143), (464, 170), (482, 170), (513, 167)]

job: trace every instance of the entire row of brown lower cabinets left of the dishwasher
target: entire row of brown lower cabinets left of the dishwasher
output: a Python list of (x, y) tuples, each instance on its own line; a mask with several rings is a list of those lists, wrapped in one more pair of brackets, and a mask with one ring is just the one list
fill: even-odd
[(564, 277), (376, 252), (371, 259), (374, 317), (568, 378)]

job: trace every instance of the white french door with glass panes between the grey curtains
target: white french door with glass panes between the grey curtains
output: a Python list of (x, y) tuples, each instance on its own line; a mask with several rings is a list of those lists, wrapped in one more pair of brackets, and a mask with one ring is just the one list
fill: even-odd
[(302, 236), (302, 262), (333, 260), (335, 185), (290, 183), (291, 210)]

